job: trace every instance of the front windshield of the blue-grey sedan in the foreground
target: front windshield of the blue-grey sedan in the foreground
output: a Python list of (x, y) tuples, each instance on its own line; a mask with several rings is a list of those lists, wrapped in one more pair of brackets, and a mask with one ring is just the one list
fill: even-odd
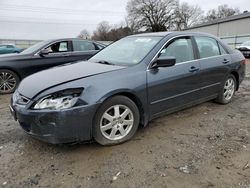
[(161, 39), (162, 37), (126, 37), (104, 48), (90, 61), (114, 65), (137, 64)]

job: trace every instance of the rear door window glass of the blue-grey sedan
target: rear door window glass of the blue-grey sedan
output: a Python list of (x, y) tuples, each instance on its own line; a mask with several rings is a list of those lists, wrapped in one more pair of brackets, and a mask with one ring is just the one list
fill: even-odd
[(218, 43), (210, 37), (195, 37), (200, 58), (213, 57), (220, 55)]

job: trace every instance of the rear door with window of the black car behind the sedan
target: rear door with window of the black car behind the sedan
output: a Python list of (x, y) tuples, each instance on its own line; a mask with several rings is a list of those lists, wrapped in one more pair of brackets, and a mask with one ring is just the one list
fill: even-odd
[(100, 49), (92, 41), (75, 39), (72, 41), (73, 53), (70, 61), (88, 60), (95, 55)]

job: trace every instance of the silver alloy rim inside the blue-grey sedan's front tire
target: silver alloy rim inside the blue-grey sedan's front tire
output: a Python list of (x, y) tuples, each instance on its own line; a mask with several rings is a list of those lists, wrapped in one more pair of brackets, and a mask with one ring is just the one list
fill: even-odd
[(114, 105), (104, 112), (100, 121), (102, 135), (109, 140), (126, 137), (134, 124), (134, 115), (125, 105)]

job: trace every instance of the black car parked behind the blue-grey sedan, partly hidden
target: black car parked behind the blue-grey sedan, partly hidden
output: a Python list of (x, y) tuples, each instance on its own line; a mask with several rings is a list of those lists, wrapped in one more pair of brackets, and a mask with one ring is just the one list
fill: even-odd
[(20, 54), (0, 56), (0, 94), (15, 91), (20, 80), (50, 67), (87, 60), (106, 45), (81, 39), (42, 41)]

